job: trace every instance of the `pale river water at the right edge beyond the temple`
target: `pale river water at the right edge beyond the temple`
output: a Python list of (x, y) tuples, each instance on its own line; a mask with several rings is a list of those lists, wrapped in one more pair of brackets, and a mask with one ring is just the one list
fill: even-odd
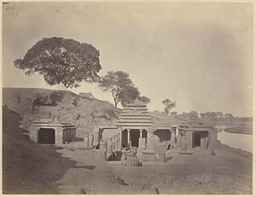
[(223, 130), (218, 132), (218, 140), (232, 148), (241, 148), (253, 153), (253, 135), (230, 133)]

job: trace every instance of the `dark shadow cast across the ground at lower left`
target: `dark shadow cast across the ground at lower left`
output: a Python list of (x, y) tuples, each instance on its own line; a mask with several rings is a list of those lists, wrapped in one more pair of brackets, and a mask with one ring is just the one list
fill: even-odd
[(3, 194), (57, 194), (55, 181), (75, 161), (61, 157), (54, 146), (29, 141), (20, 120), (18, 113), (3, 108)]

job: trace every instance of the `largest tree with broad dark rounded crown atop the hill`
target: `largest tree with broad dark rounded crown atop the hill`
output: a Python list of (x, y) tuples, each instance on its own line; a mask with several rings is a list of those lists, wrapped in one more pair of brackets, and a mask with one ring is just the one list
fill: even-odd
[(66, 88), (79, 87), (79, 83), (96, 82), (102, 69), (99, 51), (88, 43), (66, 38), (44, 38), (23, 59), (15, 60), (15, 67), (26, 75), (38, 72), (49, 85), (64, 84)]

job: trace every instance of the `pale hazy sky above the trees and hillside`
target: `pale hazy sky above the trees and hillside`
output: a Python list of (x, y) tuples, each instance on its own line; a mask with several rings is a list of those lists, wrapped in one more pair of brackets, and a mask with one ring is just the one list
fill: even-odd
[[(3, 6), (3, 87), (63, 89), (14, 67), (42, 38), (73, 38), (100, 50), (103, 76), (129, 72), (149, 110), (253, 114), (253, 3), (11, 3)], [(81, 83), (113, 103), (96, 84)]]

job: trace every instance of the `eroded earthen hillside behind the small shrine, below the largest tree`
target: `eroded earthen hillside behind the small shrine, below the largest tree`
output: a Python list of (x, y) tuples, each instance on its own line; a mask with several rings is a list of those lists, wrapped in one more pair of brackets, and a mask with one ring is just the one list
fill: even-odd
[(3, 88), (3, 105), (20, 114), (20, 125), (26, 130), (33, 119), (58, 116), (78, 127), (77, 136), (90, 132), (95, 125), (113, 125), (119, 115), (119, 110), (108, 101), (68, 90)]

